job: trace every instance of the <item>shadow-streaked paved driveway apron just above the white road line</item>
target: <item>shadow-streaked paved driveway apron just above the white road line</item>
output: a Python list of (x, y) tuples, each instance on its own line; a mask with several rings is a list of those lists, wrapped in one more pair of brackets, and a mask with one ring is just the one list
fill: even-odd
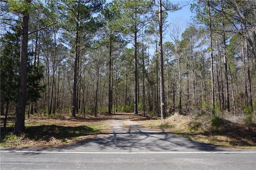
[(221, 148), (152, 129), (115, 129), (108, 137), (92, 139), (55, 148), (55, 150), (94, 151), (218, 151)]

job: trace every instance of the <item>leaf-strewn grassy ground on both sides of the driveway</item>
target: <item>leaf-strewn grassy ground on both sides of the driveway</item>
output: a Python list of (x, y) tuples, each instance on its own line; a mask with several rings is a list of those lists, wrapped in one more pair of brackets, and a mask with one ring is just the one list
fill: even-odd
[(152, 129), (165, 129), (178, 136), (190, 140), (209, 143), (220, 147), (234, 149), (256, 149), (256, 123), (245, 125), (234, 123), (224, 118), (191, 117), (174, 114), (164, 120), (149, 115), (143, 117), (133, 113), (98, 114), (97, 117), (78, 115), (71, 118), (68, 115), (55, 115), (51, 118), (43, 115), (31, 115), (25, 119), (26, 130), (22, 135), (13, 135), (15, 115), (9, 115), (7, 128), (2, 129), (0, 147), (56, 147), (78, 141), (89, 140), (103, 136), (109, 132), (113, 119), (134, 121), (134, 123)]

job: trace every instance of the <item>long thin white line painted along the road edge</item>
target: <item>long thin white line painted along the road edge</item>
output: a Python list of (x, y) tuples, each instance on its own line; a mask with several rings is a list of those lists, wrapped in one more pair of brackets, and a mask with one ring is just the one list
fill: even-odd
[(22, 153), (78, 153), (78, 154), (194, 154), (194, 153), (256, 153), (256, 151), (203, 151), (203, 152), (66, 152), (66, 151), (26, 151), (26, 150), (0, 150), (0, 152)]

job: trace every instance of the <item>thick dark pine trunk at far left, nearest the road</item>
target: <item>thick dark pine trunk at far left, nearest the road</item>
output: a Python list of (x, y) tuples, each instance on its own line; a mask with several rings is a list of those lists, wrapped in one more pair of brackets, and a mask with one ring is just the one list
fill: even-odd
[[(31, 3), (31, 1), (26, 1)], [(14, 134), (24, 133), (25, 130), (25, 109), (27, 92), (27, 54), (28, 54), (28, 21), (29, 14), (22, 16), (22, 32), (20, 36), (20, 83), (18, 88), (16, 122)]]

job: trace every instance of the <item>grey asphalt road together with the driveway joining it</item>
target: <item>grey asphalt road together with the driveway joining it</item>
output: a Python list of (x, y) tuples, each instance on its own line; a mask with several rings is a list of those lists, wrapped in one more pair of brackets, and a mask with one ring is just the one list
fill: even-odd
[(104, 137), (51, 149), (0, 150), (1, 170), (255, 170), (256, 150), (197, 143), (132, 121), (112, 121)]

